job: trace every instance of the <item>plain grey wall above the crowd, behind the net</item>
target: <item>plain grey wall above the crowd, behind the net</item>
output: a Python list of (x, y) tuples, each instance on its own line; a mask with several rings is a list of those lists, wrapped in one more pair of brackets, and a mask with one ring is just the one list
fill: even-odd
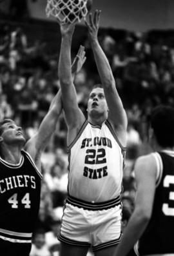
[[(12, 0), (15, 1), (15, 0)], [(27, 0), (30, 15), (46, 19), (46, 0)], [(10, 0), (0, 6), (7, 8)], [(93, 9), (102, 10), (101, 26), (146, 31), (174, 28), (173, 0), (93, 0)]]

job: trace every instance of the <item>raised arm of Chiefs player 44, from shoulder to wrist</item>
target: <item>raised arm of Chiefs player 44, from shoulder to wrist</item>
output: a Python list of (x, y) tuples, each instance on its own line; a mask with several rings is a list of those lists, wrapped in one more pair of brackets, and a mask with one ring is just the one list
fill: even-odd
[(38, 168), (40, 168), (41, 153), (43, 152), (44, 148), (50, 141), (53, 132), (55, 131), (61, 110), (61, 90), (59, 90), (59, 92), (57, 92), (53, 98), (48, 113), (39, 126), (38, 132), (34, 135), (34, 137), (29, 139), (24, 147), (24, 149), (30, 153)]

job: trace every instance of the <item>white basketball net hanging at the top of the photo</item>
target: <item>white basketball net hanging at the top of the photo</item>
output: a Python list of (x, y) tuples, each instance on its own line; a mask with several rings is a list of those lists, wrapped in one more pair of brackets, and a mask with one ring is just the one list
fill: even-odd
[(59, 23), (80, 22), (88, 14), (88, 0), (47, 0), (46, 16), (52, 15)]

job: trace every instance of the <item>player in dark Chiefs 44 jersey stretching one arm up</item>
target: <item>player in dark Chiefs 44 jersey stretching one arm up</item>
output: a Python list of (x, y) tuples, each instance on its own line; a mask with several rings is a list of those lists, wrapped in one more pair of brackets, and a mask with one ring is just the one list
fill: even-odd
[(3, 256), (28, 256), (39, 211), (41, 153), (61, 113), (61, 94), (55, 95), (38, 132), (26, 142), (11, 119), (0, 122), (0, 251)]

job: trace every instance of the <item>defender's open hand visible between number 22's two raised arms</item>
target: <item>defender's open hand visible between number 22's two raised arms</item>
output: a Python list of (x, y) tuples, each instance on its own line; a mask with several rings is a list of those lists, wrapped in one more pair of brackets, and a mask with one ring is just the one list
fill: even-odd
[(75, 59), (73, 60), (73, 63), (72, 63), (72, 74), (77, 74), (81, 70), (82, 65), (86, 61), (85, 54), (86, 54), (86, 52), (84, 51), (84, 46), (81, 45), (79, 47), (79, 51), (78, 51), (77, 55), (75, 56)]

